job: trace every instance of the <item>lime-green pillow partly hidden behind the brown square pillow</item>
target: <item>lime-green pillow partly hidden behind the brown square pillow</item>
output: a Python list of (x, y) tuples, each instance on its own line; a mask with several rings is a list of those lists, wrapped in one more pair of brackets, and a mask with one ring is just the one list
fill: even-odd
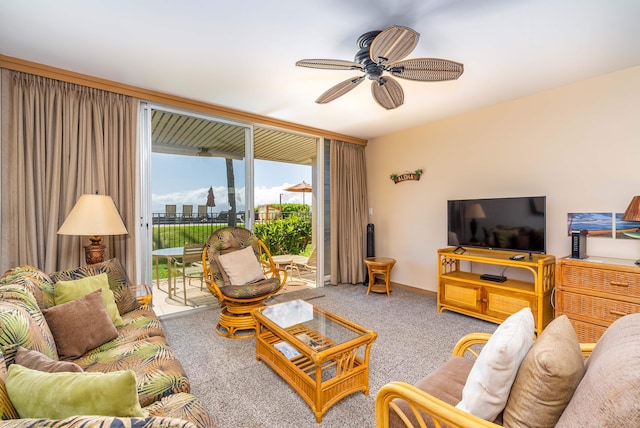
[(56, 305), (76, 300), (79, 297), (86, 296), (92, 291), (102, 289), (102, 300), (107, 307), (107, 313), (116, 327), (122, 325), (122, 317), (118, 312), (113, 291), (109, 288), (109, 278), (106, 273), (99, 275), (87, 276), (85, 278), (73, 281), (58, 281), (54, 285)]

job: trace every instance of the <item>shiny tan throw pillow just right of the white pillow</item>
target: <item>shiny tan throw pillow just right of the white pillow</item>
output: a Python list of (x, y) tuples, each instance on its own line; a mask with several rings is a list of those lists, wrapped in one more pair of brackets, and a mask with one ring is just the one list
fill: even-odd
[(584, 375), (580, 342), (566, 315), (525, 356), (504, 409), (505, 427), (554, 427)]

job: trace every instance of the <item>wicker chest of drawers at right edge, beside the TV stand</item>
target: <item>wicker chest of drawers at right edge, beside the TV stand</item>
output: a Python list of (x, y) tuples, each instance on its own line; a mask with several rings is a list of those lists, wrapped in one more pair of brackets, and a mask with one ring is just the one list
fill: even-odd
[(627, 259), (561, 258), (555, 301), (556, 316), (569, 317), (580, 342), (597, 342), (615, 320), (640, 312), (640, 267)]

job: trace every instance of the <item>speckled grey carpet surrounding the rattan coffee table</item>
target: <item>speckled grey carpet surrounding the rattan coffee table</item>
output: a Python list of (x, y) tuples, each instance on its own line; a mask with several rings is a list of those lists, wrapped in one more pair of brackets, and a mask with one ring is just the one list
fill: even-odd
[(198, 396), (219, 427), (374, 427), (375, 396), (394, 380), (414, 383), (449, 357), (466, 333), (493, 332), (495, 324), (447, 312), (435, 297), (402, 288), (367, 296), (361, 285), (327, 286), (273, 296), (267, 304), (304, 299), (378, 333), (371, 349), (369, 395), (352, 394), (320, 424), (309, 406), (265, 363), (255, 340), (230, 340), (215, 332), (219, 308), (161, 318)]

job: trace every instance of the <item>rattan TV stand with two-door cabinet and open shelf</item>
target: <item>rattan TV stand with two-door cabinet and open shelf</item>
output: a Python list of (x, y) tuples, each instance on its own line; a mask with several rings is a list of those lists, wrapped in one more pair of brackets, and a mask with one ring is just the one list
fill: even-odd
[[(529, 255), (523, 260), (511, 260), (509, 251), (465, 249), (454, 247), (438, 250), (438, 312), (445, 309), (483, 320), (501, 323), (509, 315), (530, 307), (536, 333), (540, 333), (553, 319), (551, 295), (555, 281), (554, 256)], [(480, 278), (483, 265), (517, 269), (524, 274), (505, 282), (491, 282)], [(473, 269), (476, 267), (475, 269)], [(474, 273), (473, 270), (478, 271)]]

